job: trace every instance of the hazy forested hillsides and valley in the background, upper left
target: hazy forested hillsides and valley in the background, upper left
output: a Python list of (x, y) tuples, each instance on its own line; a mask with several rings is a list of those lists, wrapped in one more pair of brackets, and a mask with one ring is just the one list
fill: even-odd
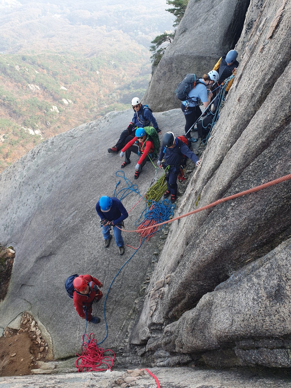
[(130, 107), (150, 80), (166, 0), (0, 1), (0, 171), (33, 145)]

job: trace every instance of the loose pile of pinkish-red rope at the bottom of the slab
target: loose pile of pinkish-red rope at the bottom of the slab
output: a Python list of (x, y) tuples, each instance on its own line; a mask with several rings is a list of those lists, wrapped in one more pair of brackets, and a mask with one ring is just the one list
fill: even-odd
[[(84, 342), (85, 335), (89, 340), (88, 343)], [(90, 333), (90, 336), (87, 336), (87, 334), (85, 335), (83, 335), (83, 344), (81, 346), (82, 354), (76, 353), (76, 355), (79, 356), (75, 362), (75, 367), (78, 369), (78, 372), (101, 372), (107, 371), (107, 369), (111, 370), (115, 359), (113, 350), (98, 348), (96, 344), (97, 341), (94, 339), (94, 333)], [(104, 355), (105, 352), (111, 352), (113, 357)]]

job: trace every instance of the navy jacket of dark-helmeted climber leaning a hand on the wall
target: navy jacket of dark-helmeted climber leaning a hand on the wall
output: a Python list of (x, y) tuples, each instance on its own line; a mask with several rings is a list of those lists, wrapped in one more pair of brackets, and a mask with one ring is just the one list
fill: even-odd
[(199, 160), (197, 156), (187, 147), (186, 144), (176, 138), (176, 145), (174, 148), (161, 148), (159, 153), (159, 160), (165, 159), (165, 167), (170, 166), (170, 172), (176, 173), (180, 170), (182, 158), (185, 155), (192, 160), (193, 163), (197, 163)]

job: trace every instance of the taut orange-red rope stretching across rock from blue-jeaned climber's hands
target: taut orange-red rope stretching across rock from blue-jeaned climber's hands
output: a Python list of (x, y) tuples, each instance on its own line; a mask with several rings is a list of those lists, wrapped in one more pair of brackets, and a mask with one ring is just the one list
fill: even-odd
[[(270, 187), (270, 186), (273, 186), (273, 185), (277, 185), (278, 183), (285, 182), (286, 180), (290, 180), (290, 179), (291, 179), (291, 174), (284, 175), (284, 177), (271, 180), (270, 182), (264, 183), (264, 184), (262, 184), (260, 186), (253, 187), (252, 189), (248, 189), (248, 190), (239, 192), (237, 194), (233, 194), (233, 195), (231, 195), (229, 197), (218, 199), (217, 201), (212, 202), (209, 205), (206, 205), (206, 206), (203, 206), (202, 208), (190, 211), (189, 213), (185, 213), (185, 214), (183, 214), (181, 216), (172, 218), (171, 220), (164, 221), (164, 222), (161, 222), (161, 223), (156, 223), (154, 226), (158, 227), (160, 225), (164, 225), (165, 223), (169, 223), (169, 222), (173, 222), (173, 221), (176, 221), (176, 220), (180, 220), (180, 218), (190, 216), (190, 215), (198, 213), (199, 211), (202, 211), (202, 210), (213, 208), (213, 206), (216, 206), (216, 205), (218, 205), (218, 204), (220, 204), (222, 202), (230, 201), (230, 199), (235, 199), (235, 198), (238, 198), (238, 197), (242, 197), (242, 196), (244, 196), (246, 194), (251, 194), (253, 192), (257, 192), (257, 191), (266, 189), (267, 187)], [(148, 230), (150, 228), (152, 228), (152, 226), (147, 226), (146, 228), (140, 229), (140, 230), (124, 230), (123, 229), (123, 232), (139, 232), (140, 233), (140, 232), (142, 232), (144, 230)]]

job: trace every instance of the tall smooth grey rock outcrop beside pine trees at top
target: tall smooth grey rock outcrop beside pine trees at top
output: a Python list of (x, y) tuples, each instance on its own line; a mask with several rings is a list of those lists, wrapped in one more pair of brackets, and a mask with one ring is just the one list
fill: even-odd
[(178, 83), (187, 73), (208, 73), (234, 48), (248, 6), (249, 0), (190, 0), (142, 100), (155, 112), (179, 107), (181, 102), (175, 98)]

